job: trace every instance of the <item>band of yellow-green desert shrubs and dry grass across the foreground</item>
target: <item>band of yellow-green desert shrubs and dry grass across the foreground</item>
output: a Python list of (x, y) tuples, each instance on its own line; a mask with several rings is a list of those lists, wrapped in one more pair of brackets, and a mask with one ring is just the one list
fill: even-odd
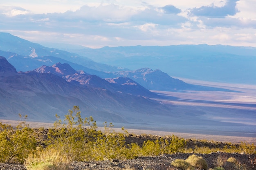
[[(20, 115), (20, 118), (26, 119), (27, 116)], [(216, 167), (214, 170), (223, 170), (226, 161), (233, 163), (234, 168), (238, 170), (245, 170), (245, 162), (240, 162), (234, 157), (227, 159), (225, 152), (256, 153), (254, 144), (245, 142), (223, 144), (206, 140), (185, 140), (174, 135), (166, 137), (141, 135), (140, 137), (147, 137), (144, 143), (126, 144), (129, 135), (124, 128), (122, 128), (123, 132), (115, 132), (111, 130), (113, 125), (105, 122), (105, 130), (96, 131), (96, 121), (92, 117), (83, 119), (78, 106), (68, 110), (63, 121), (58, 115), (56, 118), (54, 128), (49, 129), (35, 130), (29, 128), (25, 121), (20, 121), (16, 128), (0, 123), (0, 162), (24, 162), (27, 170), (68, 170), (69, 164), (73, 161), (124, 160), (177, 152), (209, 154), (218, 151), (220, 154), (216, 160), (213, 160)], [(47, 136), (43, 136), (43, 133)], [(176, 159), (171, 163), (171, 167), (164, 166), (163, 169), (207, 170), (207, 162), (194, 154), (187, 159)], [(247, 163), (252, 167), (251, 169), (255, 168), (256, 156), (249, 155)], [(125, 169), (133, 168), (127, 166)]]

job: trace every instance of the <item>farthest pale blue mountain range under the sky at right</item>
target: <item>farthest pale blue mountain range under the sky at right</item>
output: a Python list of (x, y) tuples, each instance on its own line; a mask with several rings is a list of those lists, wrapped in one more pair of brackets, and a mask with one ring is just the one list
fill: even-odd
[(256, 84), (256, 48), (227, 45), (119, 46), (68, 49), (95, 62), (211, 82)]

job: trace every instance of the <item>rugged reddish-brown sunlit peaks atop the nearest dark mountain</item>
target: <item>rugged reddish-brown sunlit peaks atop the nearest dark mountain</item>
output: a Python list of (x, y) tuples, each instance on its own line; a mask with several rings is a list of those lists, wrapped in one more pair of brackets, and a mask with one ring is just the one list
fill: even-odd
[[(117, 77), (115, 79), (111, 79), (112, 81), (110, 79), (107, 79), (106, 81), (105, 79), (101, 79), (96, 75), (88, 75), (86, 73), (80, 74), (79, 72), (75, 71), (69, 64), (57, 63), (53, 66), (41, 66), (34, 71), (38, 73), (52, 73), (64, 78), (67, 82), (76, 82), (76, 84), (91, 86), (94, 88), (104, 88), (109, 91), (120, 91), (122, 93), (144, 95), (147, 97), (157, 96), (156, 94), (148, 91), (146, 88), (132, 81), (128, 77)], [(113, 84), (113, 82), (115, 82), (115, 84)]]

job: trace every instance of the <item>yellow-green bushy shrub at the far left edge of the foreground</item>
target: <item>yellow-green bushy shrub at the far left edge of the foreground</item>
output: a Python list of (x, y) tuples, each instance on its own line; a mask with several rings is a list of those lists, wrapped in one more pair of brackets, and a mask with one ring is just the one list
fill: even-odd
[[(22, 115), (20, 115), (22, 118)], [(27, 119), (27, 115), (23, 116)], [(23, 163), (29, 152), (36, 150), (34, 131), (25, 121), (13, 130), (11, 126), (0, 123), (0, 162)]]

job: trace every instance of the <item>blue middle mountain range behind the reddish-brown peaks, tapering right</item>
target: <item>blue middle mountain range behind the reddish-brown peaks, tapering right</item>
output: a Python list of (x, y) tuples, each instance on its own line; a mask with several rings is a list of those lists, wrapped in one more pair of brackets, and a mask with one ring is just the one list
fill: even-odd
[(6, 57), (18, 71), (30, 71), (43, 65), (52, 66), (55, 63), (61, 62), (69, 64), (76, 71), (82, 70), (88, 75), (97, 75), (101, 78), (128, 77), (149, 90), (229, 91), (221, 88), (186, 84), (180, 79), (170, 77), (159, 69), (153, 71), (150, 68), (141, 68), (129, 71), (117, 66), (99, 64), (76, 53), (44, 47), (9, 33), (0, 33), (0, 50), (2, 50), (0, 55)]

